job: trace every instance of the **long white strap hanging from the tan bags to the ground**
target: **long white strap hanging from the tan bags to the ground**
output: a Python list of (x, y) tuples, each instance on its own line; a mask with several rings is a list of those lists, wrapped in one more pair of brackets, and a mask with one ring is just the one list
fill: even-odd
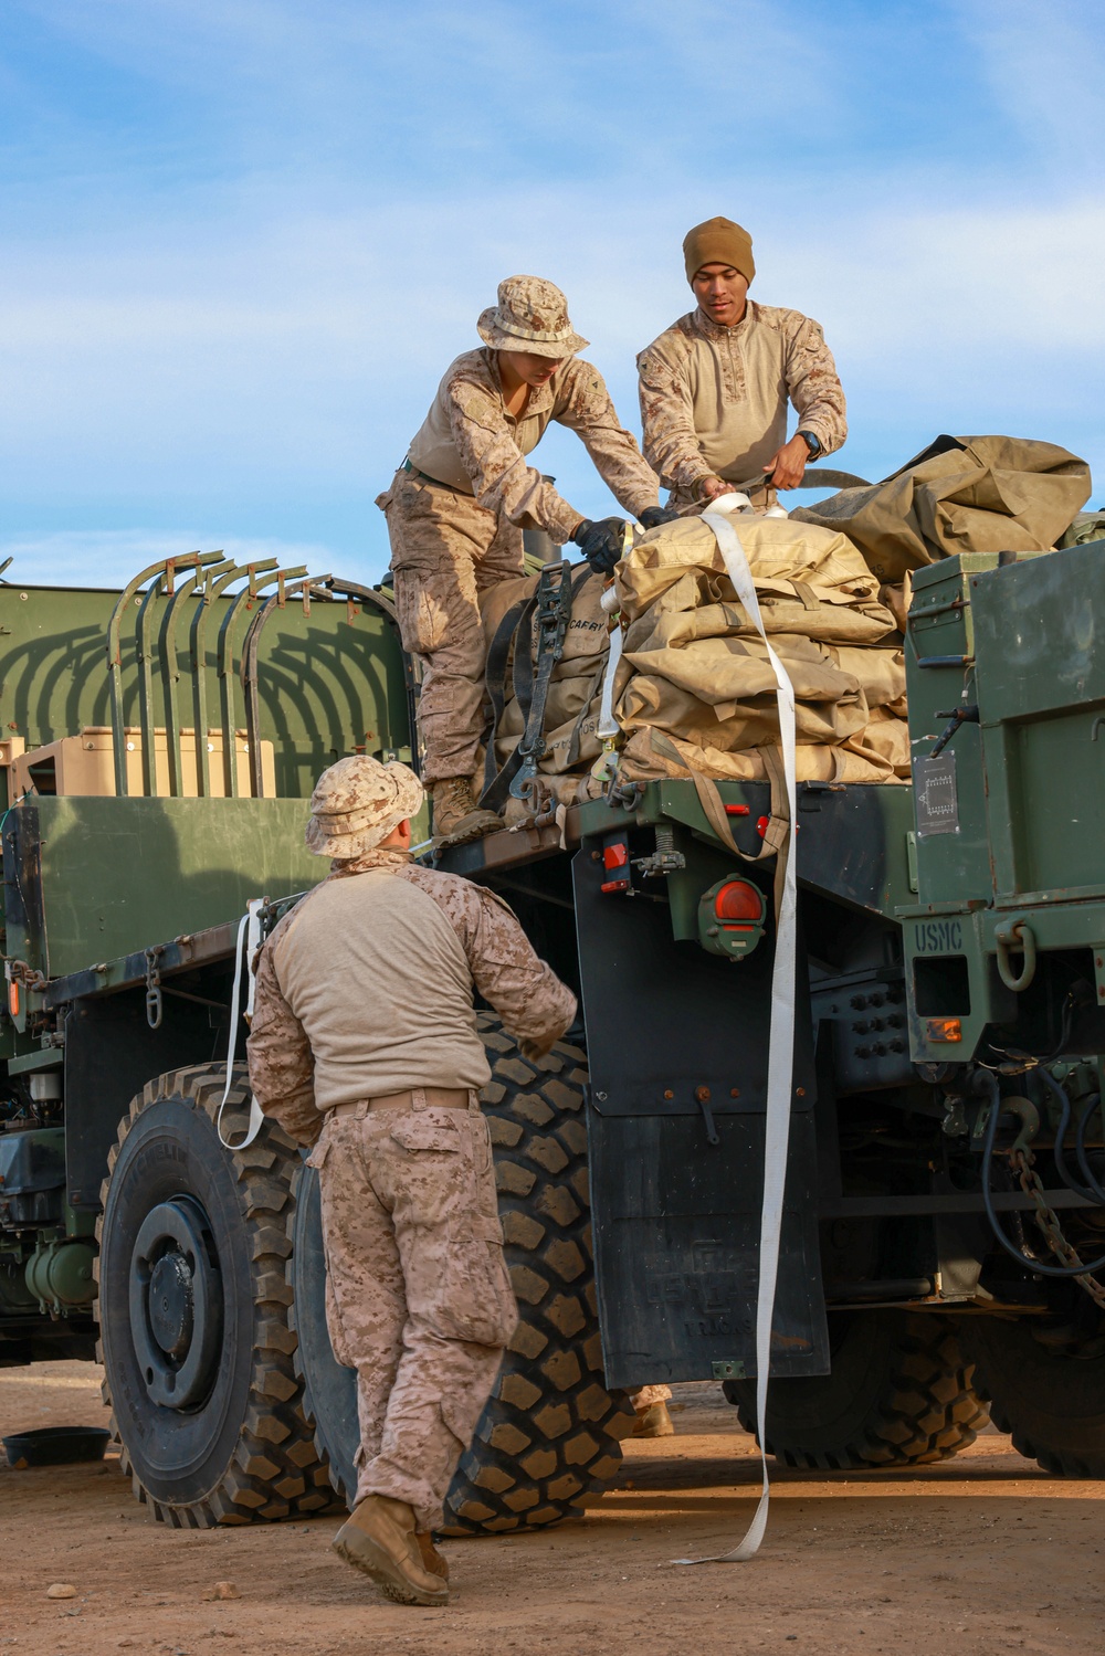
[(732, 1552), (711, 1558), (678, 1558), (676, 1563), (744, 1563), (754, 1558), (767, 1528), (770, 1480), (767, 1475), (767, 1376), (772, 1355), (772, 1318), (775, 1312), (775, 1282), (779, 1278), (779, 1242), (782, 1234), (782, 1202), (787, 1184), (787, 1146), (790, 1143), (790, 1088), (794, 1083), (794, 1002), (795, 1002), (795, 919), (797, 919), (797, 863), (795, 863), (795, 753), (794, 753), (794, 686), (775, 651), (770, 647), (749, 560), (744, 555), (736, 525), (717, 512), (704, 512), (717, 540), (729, 580), (734, 585), (746, 614), (767, 646), (779, 697), (779, 735), (782, 763), (790, 808), (790, 833), (779, 853), (785, 856), (782, 901), (775, 926), (775, 969), (772, 972), (772, 1027), (767, 1048), (767, 1123), (764, 1143), (764, 1211), (760, 1217), (760, 1282), (755, 1302), (755, 1419), (760, 1434), (760, 1464), (764, 1487), (755, 1515), (744, 1540)]

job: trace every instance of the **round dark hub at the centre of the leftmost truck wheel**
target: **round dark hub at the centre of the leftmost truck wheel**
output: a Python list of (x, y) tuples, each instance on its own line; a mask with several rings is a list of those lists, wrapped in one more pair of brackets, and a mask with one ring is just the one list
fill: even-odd
[(192, 1196), (154, 1207), (131, 1255), (131, 1338), (152, 1403), (189, 1409), (212, 1388), (222, 1282), (207, 1214)]

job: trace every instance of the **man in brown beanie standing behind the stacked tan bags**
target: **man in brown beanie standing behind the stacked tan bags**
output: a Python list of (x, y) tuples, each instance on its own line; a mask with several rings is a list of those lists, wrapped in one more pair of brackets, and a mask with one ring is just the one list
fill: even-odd
[[(638, 356), (644, 457), (673, 505), (709, 502), (764, 475), (794, 489), (810, 459), (848, 434), (845, 396), (820, 325), (747, 296), (752, 237), (707, 219), (683, 243), (697, 308)], [(787, 402), (799, 429), (787, 440)]]

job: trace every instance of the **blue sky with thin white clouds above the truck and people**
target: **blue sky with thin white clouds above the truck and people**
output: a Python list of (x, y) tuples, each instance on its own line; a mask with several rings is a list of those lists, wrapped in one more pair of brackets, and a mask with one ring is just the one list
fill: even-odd
[[(1067, 0), (7, 0), (0, 560), (162, 551), (378, 578), (374, 495), (500, 277), (568, 293), (638, 429), (679, 243), (755, 240), (817, 316), (840, 464), (939, 431), (1105, 479), (1102, 7)], [(583, 449), (545, 470), (613, 510)], [(1100, 489), (1095, 490), (1100, 500)]]

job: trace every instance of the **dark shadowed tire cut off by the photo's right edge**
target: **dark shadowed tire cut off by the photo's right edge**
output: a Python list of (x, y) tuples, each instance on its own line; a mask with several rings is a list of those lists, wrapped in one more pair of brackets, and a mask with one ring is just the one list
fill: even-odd
[(1040, 1345), (1027, 1318), (972, 1317), (963, 1345), (1014, 1449), (1055, 1477), (1105, 1477), (1105, 1355)]

